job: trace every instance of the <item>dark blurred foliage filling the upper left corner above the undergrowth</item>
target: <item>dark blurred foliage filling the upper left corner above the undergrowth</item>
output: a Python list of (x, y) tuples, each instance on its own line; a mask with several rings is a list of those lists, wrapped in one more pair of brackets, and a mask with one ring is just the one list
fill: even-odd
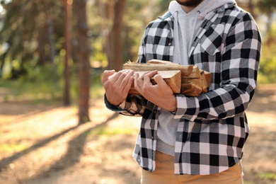
[[(26, 0), (1, 2), (6, 14), (0, 20), (0, 44), (6, 45), (6, 49), (0, 53), (0, 71), (3, 62), (13, 60), (20, 62), (20, 65), (34, 60), (36, 63), (49, 62), (50, 54), (53, 54), (50, 53), (52, 38), (54, 50), (62, 49), (64, 28), (61, 1), (47, 1), (47, 4)], [(49, 35), (50, 29), (53, 30), (52, 35)], [(10, 76), (13, 77), (12, 74)]]

